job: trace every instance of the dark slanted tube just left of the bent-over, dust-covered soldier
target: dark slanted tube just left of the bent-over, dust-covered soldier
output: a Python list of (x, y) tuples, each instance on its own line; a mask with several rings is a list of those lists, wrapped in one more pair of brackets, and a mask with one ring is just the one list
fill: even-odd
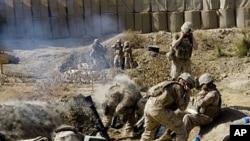
[(109, 137), (109, 134), (107, 132), (107, 129), (104, 127), (103, 123), (102, 123), (102, 120), (98, 114), (98, 112), (96, 111), (96, 108), (95, 108), (95, 105), (94, 105), (94, 102), (92, 100), (92, 97), (91, 96), (87, 96), (85, 97), (85, 100), (88, 102), (89, 104), (89, 108), (91, 109), (93, 115), (95, 116), (95, 118), (97, 119), (97, 128), (99, 131), (101, 131), (101, 134), (104, 138), (106, 138), (107, 140), (110, 140), (110, 137)]

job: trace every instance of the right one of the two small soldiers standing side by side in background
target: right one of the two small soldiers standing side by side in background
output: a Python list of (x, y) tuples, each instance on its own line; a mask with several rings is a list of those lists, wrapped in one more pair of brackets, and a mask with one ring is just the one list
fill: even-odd
[(132, 49), (128, 41), (124, 42), (123, 55), (125, 69), (132, 69)]

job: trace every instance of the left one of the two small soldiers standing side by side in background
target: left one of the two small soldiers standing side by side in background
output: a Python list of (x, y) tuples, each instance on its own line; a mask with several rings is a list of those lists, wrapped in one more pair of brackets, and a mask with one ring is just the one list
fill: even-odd
[(118, 39), (116, 41), (116, 44), (112, 46), (115, 50), (115, 58), (114, 58), (114, 67), (118, 68), (121, 67), (124, 69), (124, 64), (123, 64), (123, 52), (122, 52), (122, 42), (121, 39)]

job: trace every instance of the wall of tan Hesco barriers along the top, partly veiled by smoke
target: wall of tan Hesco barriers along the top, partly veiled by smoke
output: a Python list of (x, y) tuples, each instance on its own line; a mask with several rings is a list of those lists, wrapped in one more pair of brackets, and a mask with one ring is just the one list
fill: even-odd
[(1, 39), (101, 36), (126, 30), (245, 28), (250, 0), (0, 0)]

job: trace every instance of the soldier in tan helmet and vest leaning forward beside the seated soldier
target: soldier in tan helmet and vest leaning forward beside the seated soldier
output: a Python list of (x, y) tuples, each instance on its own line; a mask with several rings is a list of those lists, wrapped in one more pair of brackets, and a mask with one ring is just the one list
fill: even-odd
[[(176, 141), (186, 141), (187, 132), (182, 119), (174, 113), (176, 109), (184, 111), (189, 103), (191, 89), (195, 83), (189, 73), (182, 73), (178, 82), (162, 82), (149, 89), (149, 99), (144, 109), (144, 132), (141, 141), (152, 141), (160, 125), (176, 133)], [(165, 130), (157, 141), (171, 141)]]

